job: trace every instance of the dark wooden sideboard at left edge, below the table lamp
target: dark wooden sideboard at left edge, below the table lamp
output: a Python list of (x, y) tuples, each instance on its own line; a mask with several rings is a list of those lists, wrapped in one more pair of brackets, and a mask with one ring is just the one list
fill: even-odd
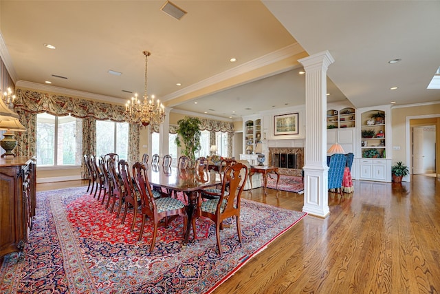
[(32, 229), (36, 208), (34, 158), (0, 158), (0, 258), (23, 249)]

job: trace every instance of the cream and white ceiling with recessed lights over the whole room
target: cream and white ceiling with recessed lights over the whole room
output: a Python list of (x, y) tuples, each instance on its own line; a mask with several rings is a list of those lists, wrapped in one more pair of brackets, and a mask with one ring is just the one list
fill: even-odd
[(426, 90), (440, 66), (440, 1), (175, 0), (181, 20), (165, 2), (1, 0), (1, 58), (17, 87), (124, 104), (144, 92), (148, 50), (148, 94), (240, 120), (304, 104), (297, 60), (328, 50), (328, 101), (440, 101)]

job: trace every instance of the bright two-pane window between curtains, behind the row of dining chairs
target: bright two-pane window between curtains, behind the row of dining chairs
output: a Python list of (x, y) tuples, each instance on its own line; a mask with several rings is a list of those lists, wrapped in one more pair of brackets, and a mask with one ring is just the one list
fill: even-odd
[(96, 156), (115, 153), (120, 159), (129, 157), (129, 123), (96, 120)]

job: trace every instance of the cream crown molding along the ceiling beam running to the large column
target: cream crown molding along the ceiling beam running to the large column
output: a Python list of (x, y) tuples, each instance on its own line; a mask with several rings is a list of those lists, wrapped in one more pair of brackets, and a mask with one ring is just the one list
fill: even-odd
[(304, 49), (300, 46), (299, 43), (288, 45), (285, 48), (281, 48), (269, 54), (263, 55), (257, 59), (248, 61), (247, 63), (243, 63), (230, 70), (221, 72), (220, 74), (216, 74), (214, 76), (211, 76), (210, 78), (206, 78), (202, 81), (189, 85), (188, 87), (184, 87), (179, 91), (168, 94), (162, 97), (162, 101), (166, 102), (171, 99), (177, 98), (179, 96), (183, 96), (185, 94), (195, 92), (210, 85), (214, 85), (221, 81), (225, 81), (228, 78), (233, 78), (234, 76), (239, 76), (240, 74), (245, 74), (247, 72), (251, 72), (252, 70), (256, 70), (261, 67), (265, 67), (266, 65), (270, 65), (272, 63), (276, 63), (283, 59), (287, 59), (291, 56), (295, 56), (296, 54), (300, 54), (301, 52), (304, 52)]

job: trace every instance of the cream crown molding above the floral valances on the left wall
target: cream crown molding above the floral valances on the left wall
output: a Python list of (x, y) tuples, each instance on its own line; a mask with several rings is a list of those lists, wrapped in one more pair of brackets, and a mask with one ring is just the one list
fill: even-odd
[(15, 87), (21, 87), (26, 88), (30, 90), (37, 90), (41, 92), (51, 92), (56, 94), (63, 94), (66, 96), (74, 96), (74, 97), (81, 97), (81, 98), (87, 98), (90, 100), (96, 100), (96, 101), (103, 101), (103, 102), (111, 102), (115, 104), (124, 105), (125, 101), (121, 98), (116, 98), (112, 96), (105, 96), (100, 94), (93, 94), (89, 92), (83, 92), (78, 90), (70, 90), (63, 87), (56, 87), (52, 85), (44, 85), (40, 83), (33, 83), (28, 81), (17, 81), (15, 84)]

